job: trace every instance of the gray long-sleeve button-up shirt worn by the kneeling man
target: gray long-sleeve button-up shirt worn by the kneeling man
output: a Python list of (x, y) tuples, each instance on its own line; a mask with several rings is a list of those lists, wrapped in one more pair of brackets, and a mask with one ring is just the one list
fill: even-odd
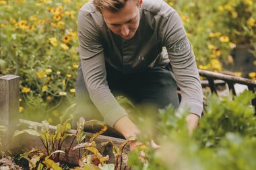
[(181, 89), (180, 107), (188, 105), (191, 113), (201, 116), (203, 95), (195, 56), (177, 11), (162, 0), (143, 0), (140, 16), (135, 36), (123, 40), (106, 26), (92, 1), (79, 10), (79, 54), (84, 81), (104, 122), (113, 126), (126, 115), (108, 88), (105, 62), (123, 74), (170, 62)]

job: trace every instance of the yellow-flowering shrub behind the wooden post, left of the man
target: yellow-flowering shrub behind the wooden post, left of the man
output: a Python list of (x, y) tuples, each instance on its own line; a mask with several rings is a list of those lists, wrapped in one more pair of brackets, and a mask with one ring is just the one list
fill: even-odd
[(0, 1), (0, 74), (20, 75), (20, 112), (35, 109), (40, 120), (59, 116), (57, 105), (73, 101), (79, 64), (76, 18), (85, 2)]

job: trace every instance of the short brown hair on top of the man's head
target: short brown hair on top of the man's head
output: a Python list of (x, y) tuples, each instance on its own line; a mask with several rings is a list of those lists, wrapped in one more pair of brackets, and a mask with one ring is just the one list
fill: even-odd
[[(127, 1), (131, 0), (93, 0), (93, 3), (98, 11), (108, 10), (111, 12), (118, 12), (125, 7)], [(139, 0), (133, 0), (136, 5), (139, 5)]]

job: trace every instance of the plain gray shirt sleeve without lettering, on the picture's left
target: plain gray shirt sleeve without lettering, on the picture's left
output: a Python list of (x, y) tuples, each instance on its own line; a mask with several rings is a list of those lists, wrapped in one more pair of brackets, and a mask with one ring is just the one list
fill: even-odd
[(113, 127), (119, 118), (127, 114), (108, 87), (104, 50), (90, 13), (79, 11), (77, 29), (80, 61), (90, 98), (102, 114), (104, 122)]

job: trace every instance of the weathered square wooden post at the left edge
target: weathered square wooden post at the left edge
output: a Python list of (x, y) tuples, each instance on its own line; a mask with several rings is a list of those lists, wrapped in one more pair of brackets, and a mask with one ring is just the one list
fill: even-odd
[(19, 122), (19, 81), (15, 75), (0, 77), (0, 124), (8, 128), (4, 142), (9, 141)]

